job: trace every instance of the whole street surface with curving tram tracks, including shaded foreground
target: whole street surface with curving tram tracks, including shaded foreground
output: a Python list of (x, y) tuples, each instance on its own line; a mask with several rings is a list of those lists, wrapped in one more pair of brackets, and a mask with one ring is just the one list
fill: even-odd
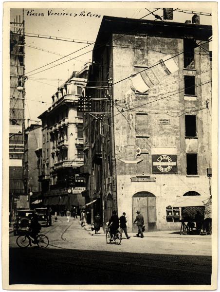
[(11, 284), (210, 284), (210, 236), (132, 234), (109, 245), (64, 217), (42, 233), (50, 240), (43, 250), (20, 249), (10, 235)]

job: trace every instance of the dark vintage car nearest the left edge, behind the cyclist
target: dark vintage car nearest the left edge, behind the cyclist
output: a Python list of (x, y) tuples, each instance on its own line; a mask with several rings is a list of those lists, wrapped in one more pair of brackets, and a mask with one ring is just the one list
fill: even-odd
[(22, 235), (29, 231), (34, 210), (18, 210), (15, 223), (13, 224), (14, 235)]

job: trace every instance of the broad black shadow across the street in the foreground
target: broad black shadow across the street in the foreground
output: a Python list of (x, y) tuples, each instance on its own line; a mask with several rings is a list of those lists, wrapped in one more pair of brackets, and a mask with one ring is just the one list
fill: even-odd
[(210, 285), (211, 256), (10, 248), (10, 284)]

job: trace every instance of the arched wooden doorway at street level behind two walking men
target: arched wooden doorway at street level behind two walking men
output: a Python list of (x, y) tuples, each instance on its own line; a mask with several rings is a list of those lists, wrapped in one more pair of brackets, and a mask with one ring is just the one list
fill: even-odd
[[(156, 216), (156, 197), (150, 192), (138, 192), (132, 197), (132, 216), (133, 222), (139, 210), (144, 216), (146, 231), (155, 231), (157, 229)], [(137, 232), (137, 225), (133, 224), (132, 231)]]

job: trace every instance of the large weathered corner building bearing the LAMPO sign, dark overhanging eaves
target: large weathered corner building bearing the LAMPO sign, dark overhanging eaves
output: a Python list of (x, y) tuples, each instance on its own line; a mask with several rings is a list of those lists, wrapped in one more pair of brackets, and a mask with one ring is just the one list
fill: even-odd
[(211, 177), (211, 35), (199, 16), (192, 23), (103, 17), (81, 171), (85, 200), (104, 223), (113, 210), (126, 212), (135, 232), (140, 210), (147, 231), (173, 230), (181, 210), (202, 212)]

